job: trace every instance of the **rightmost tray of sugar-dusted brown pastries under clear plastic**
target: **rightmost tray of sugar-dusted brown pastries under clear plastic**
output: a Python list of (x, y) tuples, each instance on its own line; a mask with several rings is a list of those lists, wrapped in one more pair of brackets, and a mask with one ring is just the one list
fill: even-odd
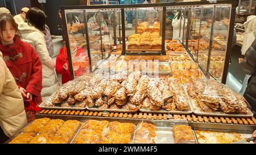
[(214, 79), (193, 79), (187, 86), (196, 114), (252, 116), (246, 100)]

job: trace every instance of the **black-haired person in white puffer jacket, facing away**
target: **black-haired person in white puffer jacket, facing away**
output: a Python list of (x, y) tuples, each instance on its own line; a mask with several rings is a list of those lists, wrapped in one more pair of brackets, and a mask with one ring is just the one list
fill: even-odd
[(59, 89), (59, 82), (55, 72), (55, 63), (47, 51), (44, 35), (46, 15), (40, 9), (32, 7), (26, 15), (27, 23), (18, 23), (18, 29), (23, 41), (31, 44), (40, 57), (43, 65), (43, 89), (41, 91), (42, 100), (46, 100), (50, 95)]

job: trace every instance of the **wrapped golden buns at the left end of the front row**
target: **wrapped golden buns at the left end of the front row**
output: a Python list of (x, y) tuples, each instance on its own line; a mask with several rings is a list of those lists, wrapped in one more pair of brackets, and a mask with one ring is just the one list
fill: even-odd
[(16, 133), (6, 143), (10, 144), (68, 144), (78, 131), (78, 120), (36, 119)]

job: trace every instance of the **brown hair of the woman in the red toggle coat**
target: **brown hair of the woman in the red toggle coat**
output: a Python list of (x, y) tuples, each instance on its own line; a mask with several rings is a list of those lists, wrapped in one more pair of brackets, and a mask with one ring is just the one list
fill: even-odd
[(14, 30), (16, 31), (16, 35), (19, 35), (18, 24), (15, 22), (15, 20), (13, 19), (13, 16), (10, 14), (1, 14), (0, 15), (1, 35), (3, 36), (3, 29), (6, 27), (6, 22), (9, 22), (13, 26)]

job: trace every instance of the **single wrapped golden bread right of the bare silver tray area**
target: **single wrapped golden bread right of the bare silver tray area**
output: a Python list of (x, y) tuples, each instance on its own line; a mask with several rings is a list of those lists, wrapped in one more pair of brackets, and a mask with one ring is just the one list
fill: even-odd
[(195, 136), (190, 126), (174, 125), (174, 140), (176, 144), (195, 144)]

